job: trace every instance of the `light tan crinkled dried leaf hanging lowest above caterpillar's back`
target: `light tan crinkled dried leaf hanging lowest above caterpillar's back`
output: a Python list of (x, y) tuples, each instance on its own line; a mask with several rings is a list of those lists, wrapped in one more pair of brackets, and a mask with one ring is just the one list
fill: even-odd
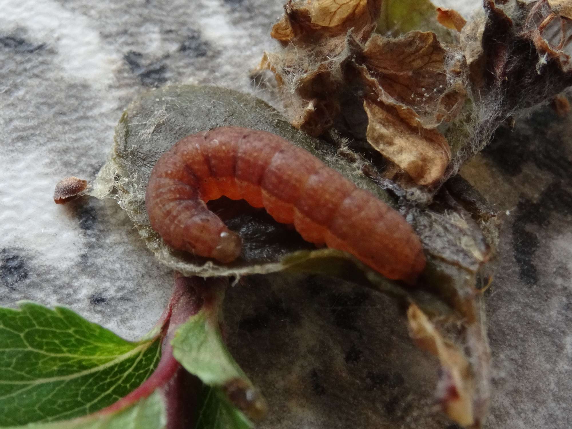
[(441, 133), (406, 124), (395, 108), (365, 100), (369, 119), (367, 141), (397, 164), (419, 185), (438, 181), (447, 168), (451, 151)]

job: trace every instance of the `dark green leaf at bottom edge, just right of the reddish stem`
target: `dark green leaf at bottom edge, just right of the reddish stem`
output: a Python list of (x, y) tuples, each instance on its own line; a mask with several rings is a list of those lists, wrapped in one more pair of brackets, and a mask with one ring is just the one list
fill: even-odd
[(198, 396), (200, 411), (194, 429), (250, 429), (252, 423), (229, 404), (219, 388), (203, 386)]

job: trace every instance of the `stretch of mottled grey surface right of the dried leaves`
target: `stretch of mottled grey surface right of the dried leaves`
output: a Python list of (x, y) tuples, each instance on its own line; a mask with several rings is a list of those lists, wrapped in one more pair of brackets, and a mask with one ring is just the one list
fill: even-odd
[(490, 427), (572, 425), (571, 133), (570, 115), (538, 109), (462, 170), (506, 215), (486, 293)]

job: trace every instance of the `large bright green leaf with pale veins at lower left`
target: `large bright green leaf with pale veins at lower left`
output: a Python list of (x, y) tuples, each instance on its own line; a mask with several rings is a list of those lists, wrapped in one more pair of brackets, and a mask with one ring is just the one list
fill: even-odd
[(152, 374), (160, 338), (130, 342), (73, 311), (0, 308), (0, 427), (91, 414)]

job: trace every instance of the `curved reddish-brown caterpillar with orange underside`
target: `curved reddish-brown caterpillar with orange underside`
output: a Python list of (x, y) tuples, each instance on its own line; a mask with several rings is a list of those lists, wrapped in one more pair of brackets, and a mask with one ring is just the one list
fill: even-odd
[(390, 279), (412, 282), (422, 245), (398, 212), (311, 153), (275, 134), (226, 126), (178, 141), (149, 178), (152, 228), (175, 249), (222, 263), (241, 251), (205, 202), (221, 196), (264, 207), (315, 244), (347, 251)]

